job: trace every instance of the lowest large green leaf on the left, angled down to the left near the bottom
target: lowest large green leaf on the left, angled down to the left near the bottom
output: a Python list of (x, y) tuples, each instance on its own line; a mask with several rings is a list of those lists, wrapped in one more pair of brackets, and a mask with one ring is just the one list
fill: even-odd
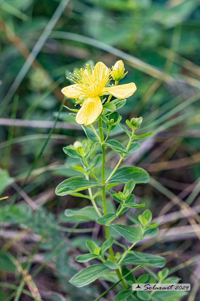
[(103, 274), (108, 273), (110, 270), (111, 269), (106, 267), (104, 264), (94, 264), (76, 273), (69, 282), (76, 287), (82, 287), (92, 283)]

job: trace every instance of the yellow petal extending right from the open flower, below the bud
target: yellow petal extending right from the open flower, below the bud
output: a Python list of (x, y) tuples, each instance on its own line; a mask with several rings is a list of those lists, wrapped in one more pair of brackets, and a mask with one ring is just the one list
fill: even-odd
[(124, 84), (124, 85), (119, 85), (114, 87), (105, 87), (103, 89), (103, 92), (109, 92), (113, 96), (119, 99), (123, 99), (133, 95), (136, 89), (137, 88), (135, 83), (129, 83), (129, 84)]

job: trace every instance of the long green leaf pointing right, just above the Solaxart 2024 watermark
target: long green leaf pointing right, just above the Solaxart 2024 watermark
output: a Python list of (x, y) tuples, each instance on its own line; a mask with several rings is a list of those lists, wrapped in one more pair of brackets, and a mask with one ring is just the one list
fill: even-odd
[(121, 265), (127, 264), (142, 265), (148, 267), (164, 267), (165, 258), (158, 255), (132, 251), (128, 253), (126, 257), (124, 257), (121, 261)]

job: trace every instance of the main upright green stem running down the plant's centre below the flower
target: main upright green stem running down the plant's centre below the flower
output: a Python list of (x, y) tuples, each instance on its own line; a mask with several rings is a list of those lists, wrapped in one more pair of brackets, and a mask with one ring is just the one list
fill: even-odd
[[(104, 141), (104, 135), (103, 135), (103, 130), (102, 130), (102, 119), (99, 119), (98, 125), (99, 125), (99, 133), (100, 133), (101, 142), (103, 142)], [(104, 211), (104, 214), (106, 214), (107, 210), (106, 210), (106, 202), (105, 202), (105, 146), (104, 146), (104, 144), (102, 144), (102, 185), (103, 185), (103, 188), (102, 188), (103, 211)], [(109, 228), (106, 225), (105, 225), (105, 232), (106, 232), (106, 237), (108, 239), (110, 237), (110, 233), (109, 233)], [(111, 259), (113, 261), (115, 261), (112, 246), (109, 248), (109, 252), (110, 252), (110, 255), (111, 255)], [(119, 280), (121, 280), (122, 275), (120, 273), (120, 270), (116, 269), (115, 271), (117, 273), (117, 276), (118, 276)], [(122, 283), (124, 288), (127, 288), (124, 280), (121, 280), (121, 283)]]

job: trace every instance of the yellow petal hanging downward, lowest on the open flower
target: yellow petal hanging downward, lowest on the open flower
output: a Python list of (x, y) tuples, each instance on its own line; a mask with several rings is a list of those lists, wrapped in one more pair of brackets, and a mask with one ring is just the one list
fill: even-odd
[(84, 100), (82, 107), (77, 113), (76, 122), (89, 125), (96, 120), (102, 112), (102, 102), (99, 96), (89, 97)]

